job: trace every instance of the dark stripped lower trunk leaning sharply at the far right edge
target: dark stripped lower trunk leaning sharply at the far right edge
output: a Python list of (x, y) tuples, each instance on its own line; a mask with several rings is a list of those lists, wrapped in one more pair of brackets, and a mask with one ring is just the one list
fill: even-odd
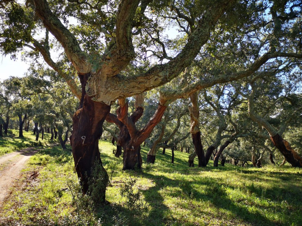
[(302, 167), (302, 158), (295, 152), (295, 150), (289, 145), (286, 140), (277, 133), (275, 136), (271, 137), (271, 141), (274, 146), (277, 147), (286, 161), (290, 163), (293, 167)]

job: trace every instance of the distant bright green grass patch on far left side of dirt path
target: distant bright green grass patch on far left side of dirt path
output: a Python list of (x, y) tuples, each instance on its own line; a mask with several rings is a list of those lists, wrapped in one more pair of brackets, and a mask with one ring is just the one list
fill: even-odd
[(26, 147), (43, 146), (48, 142), (50, 134), (44, 133), (44, 140), (36, 141), (36, 135), (23, 131), (24, 137), (18, 137), (19, 130), (8, 130), (8, 136), (0, 137), (0, 156), (9, 152), (21, 150)]

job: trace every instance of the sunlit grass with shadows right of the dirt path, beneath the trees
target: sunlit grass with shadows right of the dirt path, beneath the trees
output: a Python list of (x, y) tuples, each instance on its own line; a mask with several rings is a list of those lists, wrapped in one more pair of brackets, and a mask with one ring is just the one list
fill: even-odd
[[(122, 159), (112, 154), (114, 146), (100, 141), (100, 148), (112, 177), (106, 193), (109, 203), (93, 210), (78, 198), (72, 154), (56, 146), (30, 159), (19, 189), (4, 206), (2, 224), (302, 225), (301, 169), (229, 164), (214, 168), (211, 161), (206, 168), (188, 168), (188, 154), (175, 152), (171, 164), (168, 149), (165, 155), (158, 153), (154, 165), (143, 164), (141, 172), (122, 171)], [(147, 151), (142, 148), (143, 162)], [(130, 177), (137, 178), (135, 190), (149, 203), (146, 215), (134, 215), (121, 196)]]

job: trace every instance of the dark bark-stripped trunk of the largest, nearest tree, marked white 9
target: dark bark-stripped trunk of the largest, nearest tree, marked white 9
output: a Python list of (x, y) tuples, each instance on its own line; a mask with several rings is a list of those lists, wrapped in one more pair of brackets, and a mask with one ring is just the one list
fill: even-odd
[[(70, 136), (72, 155), (76, 172), (80, 178), (83, 193), (88, 192), (90, 178), (95, 168), (101, 169), (102, 186), (99, 188), (100, 200), (105, 201), (106, 187), (109, 181), (108, 174), (103, 167), (98, 149), (98, 138), (103, 133), (102, 125), (110, 112), (110, 105), (93, 101), (85, 93), (85, 86), (89, 74), (79, 75), (82, 84), (82, 97), (78, 110), (73, 115), (73, 132)], [(99, 181), (99, 179), (98, 179)]]

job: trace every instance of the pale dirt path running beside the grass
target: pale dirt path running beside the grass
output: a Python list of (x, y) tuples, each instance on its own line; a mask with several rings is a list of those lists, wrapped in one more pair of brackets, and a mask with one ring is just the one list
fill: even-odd
[(20, 178), (26, 161), (39, 150), (37, 147), (30, 147), (0, 157), (0, 207), (11, 194), (11, 187)]

